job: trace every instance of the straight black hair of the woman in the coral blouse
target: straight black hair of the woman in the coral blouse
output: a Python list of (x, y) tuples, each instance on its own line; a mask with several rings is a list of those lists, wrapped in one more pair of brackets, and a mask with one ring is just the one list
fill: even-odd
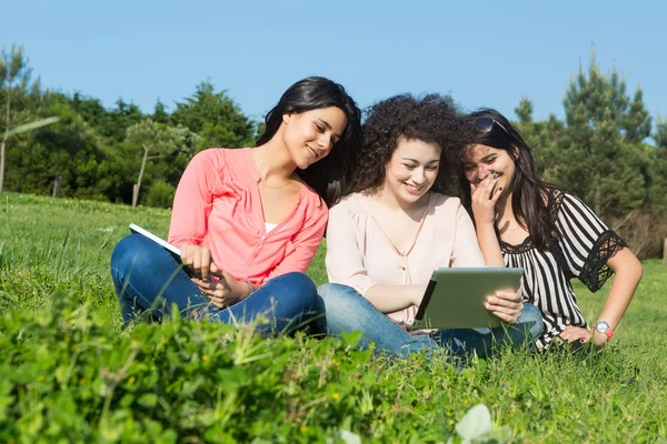
[(263, 133), (257, 145), (267, 143), (282, 123), (282, 115), (321, 108), (336, 107), (346, 118), (347, 125), (331, 152), (297, 174), (312, 188), (328, 206), (334, 205), (347, 192), (351, 182), (354, 154), (361, 139), (361, 111), (345, 88), (323, 77), (299, 80), (285, 91), (280, 101), (266, 117)]

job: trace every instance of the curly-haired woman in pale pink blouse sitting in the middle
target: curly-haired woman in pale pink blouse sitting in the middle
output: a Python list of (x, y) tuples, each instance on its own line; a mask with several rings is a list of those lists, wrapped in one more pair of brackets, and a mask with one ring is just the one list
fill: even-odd
[(485, 266), (470, 216), (444, 194), (469, 129), (448, 98), (398, 95), (370, 108), (356, 160), (354, 193), (329, 212), (327, 272), (318, 289), (329, 334), (359, 330), (362, 347), (405, 356), (432, 347), (489, 353), (498, 342), (532, 342), (539, 312), (517, 293), (496, 292), (486, 309), (508, 326), (412, 331), (434, 269)]

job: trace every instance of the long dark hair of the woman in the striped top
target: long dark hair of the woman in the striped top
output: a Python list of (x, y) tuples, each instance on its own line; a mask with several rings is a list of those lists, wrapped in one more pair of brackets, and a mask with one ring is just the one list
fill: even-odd
[[(491, 127), (490, 131), (481, 132), (475, 129), (475, 120), (478, 118), (491, 118), (497, 123)], [(537, 176), (532, 150), (505, 115), (494, 109), (485, 108), (465, 115), (462, 120), (472, 129), (475, 144), (505, 150), (515, 162), (515, 175), (510, 184), (512, 190), (511, 211), (517, 218), (517, 222), (528, 231), (532, 244), (540, 250), (548, 249), (549, 240), (559, 233), (556, 225), (557, 195), (555, 191), (564, 189), (544, 182)], [(498, 123), (505, 129), (500, 128)], [(458, 175), (461, 202), (472, 216), (470, 185), (462, 169), (459, 170)]]

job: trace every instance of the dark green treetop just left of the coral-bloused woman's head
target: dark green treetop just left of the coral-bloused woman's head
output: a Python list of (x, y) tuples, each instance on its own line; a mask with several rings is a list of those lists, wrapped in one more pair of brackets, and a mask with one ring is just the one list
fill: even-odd
[(225, 91), (216, 92), (209, 82), (200, 83), (192, 97), (177, 103), (171, 120), (201, 137), (198, 151), (255, 144), (255, 122), (241, 113)]

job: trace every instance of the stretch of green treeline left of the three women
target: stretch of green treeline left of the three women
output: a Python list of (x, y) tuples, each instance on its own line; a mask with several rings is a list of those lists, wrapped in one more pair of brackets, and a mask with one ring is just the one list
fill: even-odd
[(259, 125), (209, 82), (172, 112), (160, 101), (143, 113), (122, 99), (107, 109), (79, 92), (51, 91), (33, 78), (21, 47), (2, 50), (0, 110), (0, 135), (6, 128), (60, 118), (6, 141), (0, 190), (129, 204), (139, 184), (139, 202), (157, 206), (171, 204), (192, 155), (210, 147), (253, 145)]

